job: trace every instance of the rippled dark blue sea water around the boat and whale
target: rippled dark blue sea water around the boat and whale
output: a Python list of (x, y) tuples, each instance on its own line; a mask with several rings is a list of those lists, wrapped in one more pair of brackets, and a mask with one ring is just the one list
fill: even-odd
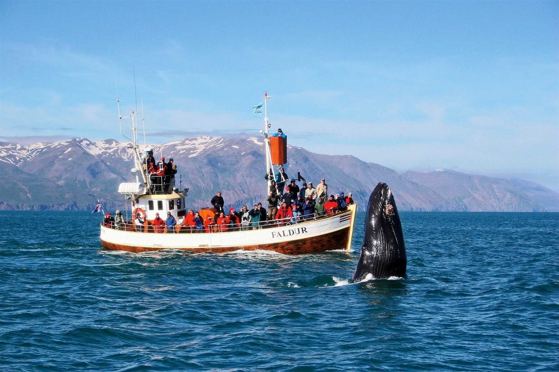
[(1, 370), (559, 370), (559, 214), (401, 212), (406, 278), (361, 248), (110, 252), (101, 214), (0, 212)]

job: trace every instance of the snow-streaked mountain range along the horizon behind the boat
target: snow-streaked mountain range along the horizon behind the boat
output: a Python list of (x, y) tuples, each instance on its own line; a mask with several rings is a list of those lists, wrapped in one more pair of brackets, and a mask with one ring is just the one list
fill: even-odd
[[(266, 199), (262, 137), (198, 136), (153, 145), (155, 157), (174, 158), (177, 187), (190, 188), (187, 203), (209, 206), (221, 191), (228, 205), (249, 207)], [(0, 209), (89, 209), (102, 201), (106, 210), (124, 206), (116, 190), (135, 180), (129, 143), (74, 138), (21, 146), (0, 142)], [(288, 145), (287, 174), (307, 181), (326, 178), (329, 194), (353, 192), (363, 209), (378, 182), (394, 192), (399, 209), (409, 211), (559, 210), (559, 194), (537, 183), (466, 173), (404, 172), (354, 156), (317, 154)], [(300, 184), (300, 183), (299, 183)], [(266, 204), (264, 202), (264, 204)]]

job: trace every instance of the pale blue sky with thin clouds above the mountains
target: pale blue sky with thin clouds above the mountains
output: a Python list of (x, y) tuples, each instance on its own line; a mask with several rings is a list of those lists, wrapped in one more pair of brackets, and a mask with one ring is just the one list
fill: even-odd
[[(134, 85), (135, 75), (135, 85)], [(0, 141), (272, 129), (559, 190), (559, 2), (0, 2)], [(136, 93), (135, 93), (136, 91)]]

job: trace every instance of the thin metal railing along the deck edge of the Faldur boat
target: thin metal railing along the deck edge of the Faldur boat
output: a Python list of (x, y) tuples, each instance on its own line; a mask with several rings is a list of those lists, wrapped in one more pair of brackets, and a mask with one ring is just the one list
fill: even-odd
[[(259, 230), (259, 229), (269, 229), (269, 228), (277, 228), (280, 226), (299, 226), (300, 224), (304, 224), (310, 221), (320, 220), (329, 218), (334, 215), (343, 215), (344, 213), (349, 213), (347, 207), (344, 208), (333, 208), (328, 211), (320, 212), (320, 213), (313, 213), (309, 215), (301, 215), (297, 217), (288, 217), (285, 219), (276, 219), (276, 220), (266, 220), (266, 221), (254, 221), (249, 223), (241, 223), (241, 224), (215, 224), (212, 223), (211, 225), (204, 225), (204, 226), (184, 226), (183, 223), (179, 224), (177, 222), (176, 225), (167, 226), (167, 225), (154, 225), (153, 221), (145, 220), (144, 224), (136, 224), (135, 221), (132, 219), (132, 215), (126, 214), (123, 215), (124, 223), (117, 223), (117, 222), (110, 222), (105, 224), (104, 222), (101, 225), (116, 229), (116, 230), (125, 230), (125, 231), (136, 231), (141, 233), (173, 233), (173, 234), (189, 234), (189, 233), (225, 233), (225, 232), (232, 232), (232, 231), (249, 231), (249, 230)], [(163, 223), (165, 223), (165, 219), (162, 219)]]

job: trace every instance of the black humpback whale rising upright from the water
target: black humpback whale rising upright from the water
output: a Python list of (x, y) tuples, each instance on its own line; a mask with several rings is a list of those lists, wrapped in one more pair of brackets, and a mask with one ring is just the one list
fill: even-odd
[(361, 254), (351, 282), (404, 277), (407, 264), (394, 195), (386, 183), (379, 182), (369, 196)]

